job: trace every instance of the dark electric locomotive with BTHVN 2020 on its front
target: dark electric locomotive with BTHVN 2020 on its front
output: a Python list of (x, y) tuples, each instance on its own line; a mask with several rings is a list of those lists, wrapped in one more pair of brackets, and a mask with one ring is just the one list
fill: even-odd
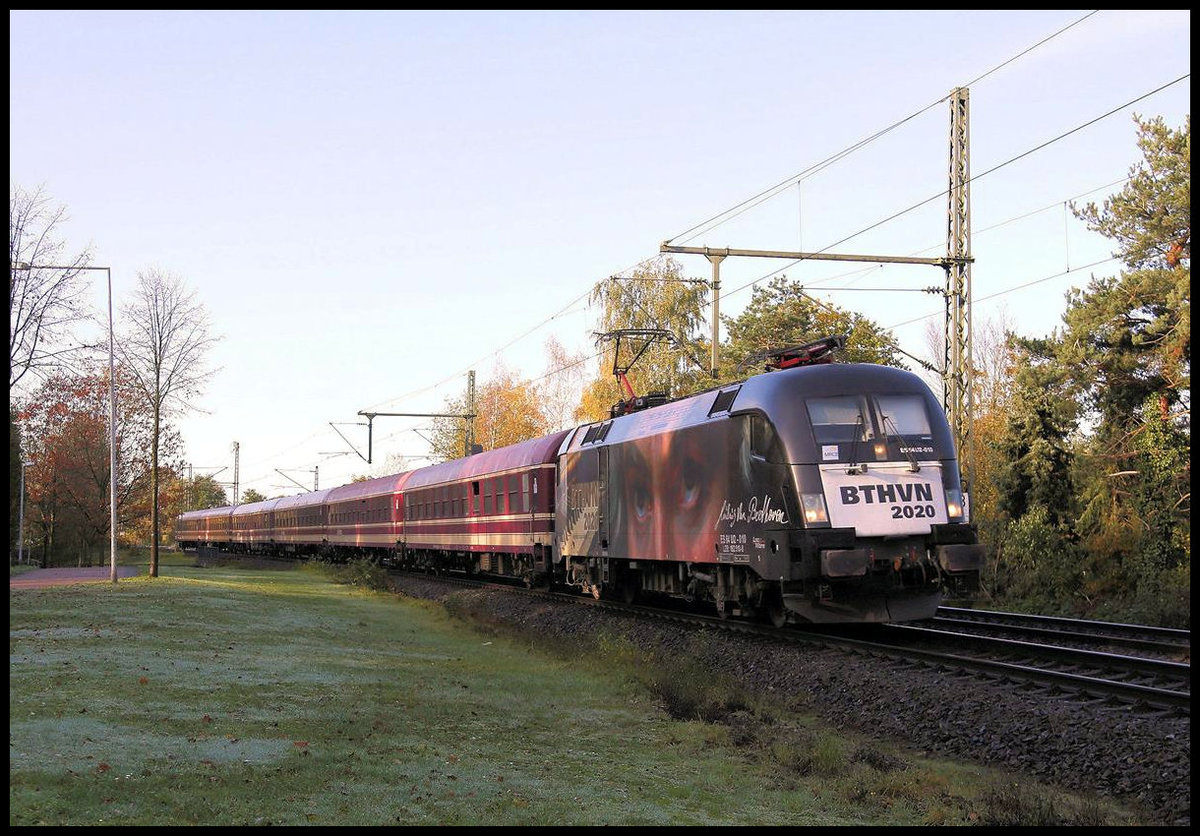
[(925, 383), (802, 356), (564, 439), (563, 582), (779, 626), (924, 619), (977, 588), (983, 547)]

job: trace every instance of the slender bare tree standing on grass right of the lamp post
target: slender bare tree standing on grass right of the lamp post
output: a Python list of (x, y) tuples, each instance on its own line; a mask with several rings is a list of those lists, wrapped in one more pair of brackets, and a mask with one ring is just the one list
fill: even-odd
[(217, 338), (209, 332), (204, 305), (181, 279), (157, 270), (138, 275), (133, 299), (121, 312), (126, 325), (118, 351), (152, 415), (150, 577), (158, 577), (158, 459), (163, 422), (191, 408), (191, 398), (203, 390), (212, 374), (205, 365), (206, 355)]

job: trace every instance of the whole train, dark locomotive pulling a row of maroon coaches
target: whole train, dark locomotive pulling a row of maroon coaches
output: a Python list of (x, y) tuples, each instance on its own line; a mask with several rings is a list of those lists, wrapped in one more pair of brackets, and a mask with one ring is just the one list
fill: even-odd
[(775, 626), (913, 621), (978, 589), (929, 386), (838, 342), (602, 421), (294, 497), (188, 511), (180, 548), (461, 572)]

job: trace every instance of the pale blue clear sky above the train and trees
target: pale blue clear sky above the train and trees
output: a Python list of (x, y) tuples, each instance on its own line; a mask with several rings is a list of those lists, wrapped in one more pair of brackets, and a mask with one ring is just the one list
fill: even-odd
[[(594, 354), (589, 290), (664, 242), (944, 255), (956, 88), (976, 337), (1049, 335), (1120, 272), (1069, 206), (1141, 161), (1135, 114), (1182, 127), (1190, 20), (10, 11), (10, 185), (66, 208), (118, 309), (146, 271), (194, 291), (220, 341), (184, 459), (232, 482), (236, 444), (240, 492), (289, 495), (427, 463), (430, 420), (380, 416), (368, 464), (360, 411), (445, 411), (469, 371), (540, 379), (550, 339)], [(720, 314), (778, 275), (932, 359), (941, 269), (731, 257)]]

